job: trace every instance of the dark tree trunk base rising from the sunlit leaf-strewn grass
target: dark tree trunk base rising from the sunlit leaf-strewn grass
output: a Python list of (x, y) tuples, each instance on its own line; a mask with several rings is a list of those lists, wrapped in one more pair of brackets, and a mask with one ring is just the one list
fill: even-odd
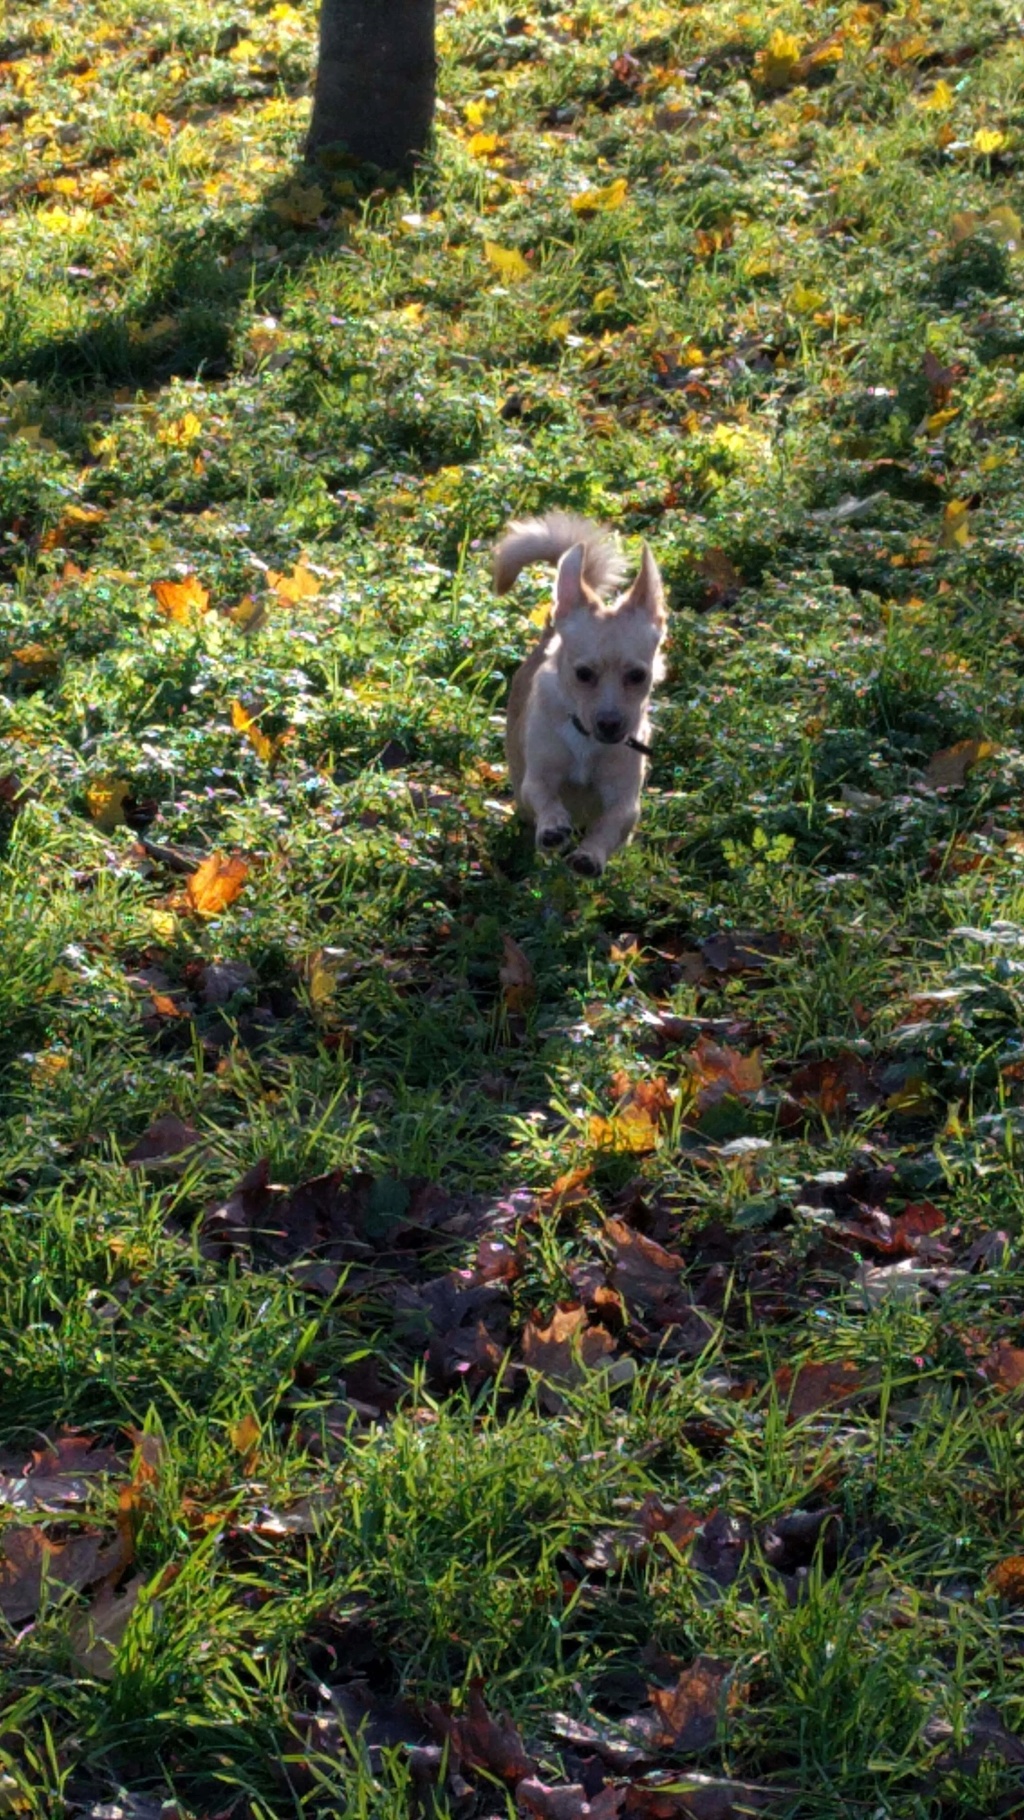
[(322, 0), (306, 157), (336, 146), (406, 177), (427, 146), (435, 84), (435, 0)]

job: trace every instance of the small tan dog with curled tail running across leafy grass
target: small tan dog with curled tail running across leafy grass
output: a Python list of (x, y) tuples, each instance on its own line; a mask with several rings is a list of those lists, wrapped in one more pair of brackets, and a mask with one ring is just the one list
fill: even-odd
[(666, 606), (658, 566), (644, 544), (626, 579), (611, 535), (589, 519), (549, 511), (509, 524), (495, 550), (495, 588), (507, 593), (527, 562), (557, 562), (555, 610), (509, 692), (506, 750), (520, 814), (537, 846), (567, 855), (597, 879), (640, 814), (649, 753), (648, 703), (664, 673)]

